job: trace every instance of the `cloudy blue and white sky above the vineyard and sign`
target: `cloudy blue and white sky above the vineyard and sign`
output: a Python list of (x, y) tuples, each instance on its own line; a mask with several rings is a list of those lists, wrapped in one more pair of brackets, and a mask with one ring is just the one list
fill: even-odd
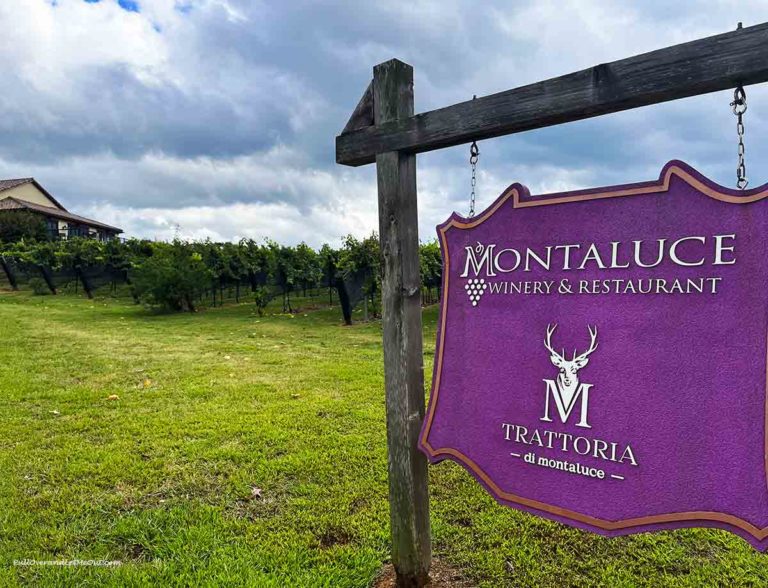
[[(377, 226), (373, 167), (334, 163), (374, 64), (414, 66), (418, 112), (766, 20), (768, 0), (1, 0), (0, 177), (34, 176), (129, 236), (338, 244)], [(768, 90), (747, 95), (756, 186)], [(478, 209), (515, 181), (641, 181), (670, 159), (732, 186), (731, 99), (484, 141)], [(419, 156), (422, 239), (466, 214), (467, 157)]]

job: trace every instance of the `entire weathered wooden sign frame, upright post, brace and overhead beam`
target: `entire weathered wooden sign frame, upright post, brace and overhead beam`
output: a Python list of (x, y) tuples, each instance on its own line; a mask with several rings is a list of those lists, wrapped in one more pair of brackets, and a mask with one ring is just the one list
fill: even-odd
[(413, 70), (373, 81), (336, 138), (336, 161), (376, 163), (392, 561), (399, 586), (423, 586), (431, 548), (427, 464), (418, 450), (424, 385), (416, 154), (768, 81), (768, 23), (601, 64), (414, 115)]

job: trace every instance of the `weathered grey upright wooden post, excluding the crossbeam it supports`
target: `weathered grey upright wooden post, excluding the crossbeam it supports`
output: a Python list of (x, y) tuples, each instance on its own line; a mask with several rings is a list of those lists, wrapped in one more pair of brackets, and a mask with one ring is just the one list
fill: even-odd
[[(392, 60), (374, 69), (376, 124), (413, 115), (413, 69)], [(382, 271), (392, 563), (398, 586), (423, 586), (431, 559), (424, 419), (416, 156), (376, 156)]]

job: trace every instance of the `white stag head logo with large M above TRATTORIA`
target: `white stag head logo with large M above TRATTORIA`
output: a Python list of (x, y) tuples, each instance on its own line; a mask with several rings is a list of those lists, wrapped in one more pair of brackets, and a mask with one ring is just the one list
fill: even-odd
[(591, 429), (592, 427), (587, 422), (587, 409), (589, 405), (589, 389), (592, 387), (592, 384), (579, 382), (578, 372), (589, 363), (589, 356), (597, 349), (597, 327), (587, 326), (590, 335), (589, 349), (579, 354), (577, 354), (574, 349), (573, 358), (570, 360), (566, 359), (565, 349), (563, 349), (562, 353), (558, 353), (555, 351), (554, 347), (552, 347), (552, 335), (556, 329), (556, 324), (547, 325), (544, 347), (550, 353), (549, 360), (552, 362), (552, 365), (554, 365), (560, 373), (557, 375), (557, 380), (544, 380), (544, 383), (547, 385), (547, 390), (544, 416), (541, 420), (552, 422), (552, 419), (549, 416), (550, 397), (554, 399), (557, 413), (563, 423), (565, 423), (571, 416), (571, 412), (573, 412), (576, 402), (581, 398), (580, 418), (579, 422), (576, 423), (576, 426)]

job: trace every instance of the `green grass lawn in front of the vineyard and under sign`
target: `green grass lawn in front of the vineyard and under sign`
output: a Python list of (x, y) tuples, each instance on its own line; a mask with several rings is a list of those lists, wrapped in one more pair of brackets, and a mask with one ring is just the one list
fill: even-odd
[[(0, 294), (0, 585), (369, 585), (389, 553), (380, 324), (339, 314)], [(607, 539), (498, 506), (453, 463), (430, 476), (435, 557), (480, 586), (768, 584), (768, 555), (722, 531)]]

